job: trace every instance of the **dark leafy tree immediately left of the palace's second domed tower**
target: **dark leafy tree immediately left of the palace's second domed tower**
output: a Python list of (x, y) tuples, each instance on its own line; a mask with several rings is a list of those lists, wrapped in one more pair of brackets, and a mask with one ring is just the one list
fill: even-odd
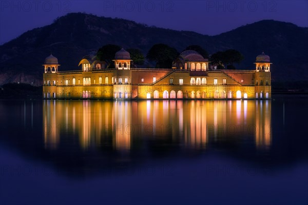
[(112, 60), (114, 59), (115, 53), (119, 50), (121, 50), (120, 46), (107, 44), (99, 49), (97, 53), (97, 59), (107, 61), (109, 63), (107, 67), (114, 68), (114, 62)]

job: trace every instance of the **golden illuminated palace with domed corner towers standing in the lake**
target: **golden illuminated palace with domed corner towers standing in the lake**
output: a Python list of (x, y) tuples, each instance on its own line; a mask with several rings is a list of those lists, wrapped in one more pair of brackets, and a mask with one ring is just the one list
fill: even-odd
[(172, 69), (132, 68), (130, 54), (121, 49), (115, 68), (86, 55), (82, 68), (59, 71), (53, 55), (45, 59), (43, 97), (50, 99), (266, 99), (271, 98), (270, 59), (256, 57), (255, 70), (209, 69), (196, 51), (182, 52)]

